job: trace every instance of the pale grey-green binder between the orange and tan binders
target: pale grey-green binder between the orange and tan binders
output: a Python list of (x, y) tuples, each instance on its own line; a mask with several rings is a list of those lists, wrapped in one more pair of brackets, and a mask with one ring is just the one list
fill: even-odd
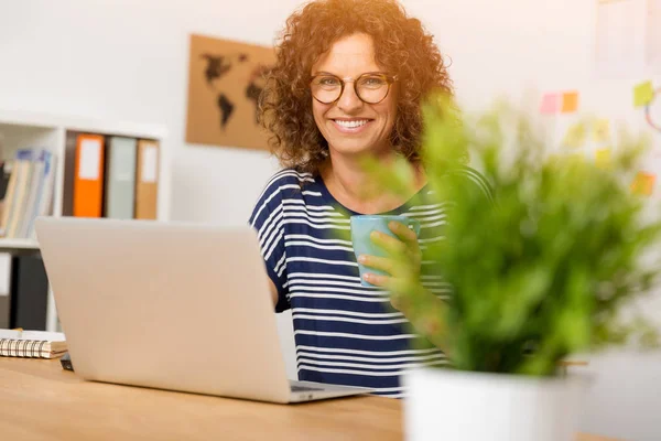
[(137, 140), (109, 137), (106, 170), (106, 196), (104, 214), (116, 219), (133, 218), (136, 204), (136, 150)]

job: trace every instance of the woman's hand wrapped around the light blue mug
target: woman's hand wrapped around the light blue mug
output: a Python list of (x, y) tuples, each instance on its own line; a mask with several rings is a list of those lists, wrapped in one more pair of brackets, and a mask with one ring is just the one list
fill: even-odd
[(362, 255), (358, 257), (358, 261), (389, 275), (368, 272), (364, 278), (369, 283), (390, 291), (390, 302), (402, 311), (407, 303), (403, 294), (420, 287), (422, 252), (418, 236), (412, 229), (395, 220), (390, 222), (388, 227), (397, 237), (381, 232), (372, 232), (370, 235), (372, 243), (381, 247), (388, 257)]

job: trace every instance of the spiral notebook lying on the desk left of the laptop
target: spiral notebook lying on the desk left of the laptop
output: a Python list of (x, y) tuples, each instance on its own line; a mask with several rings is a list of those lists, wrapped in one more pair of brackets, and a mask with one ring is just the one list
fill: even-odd
[(57, 358), (66, 354), (61, 332), (0, 330), (0, 356)]

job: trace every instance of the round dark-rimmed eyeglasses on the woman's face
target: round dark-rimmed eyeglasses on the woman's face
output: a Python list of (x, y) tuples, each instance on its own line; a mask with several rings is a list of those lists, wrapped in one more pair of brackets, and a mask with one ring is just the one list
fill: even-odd
[(397, 75), (362, 74), (354, 79), (338, 78), (330, 74), (321, 74), (312, 77), (310, 87), (314, 99), (322, 104), (333, 104), (344, 93), (346, 83), (354, 83), (354, 90), (358, 98), (367, 104), (379, 104), (388, 96), (390, 85), (397, 82)]

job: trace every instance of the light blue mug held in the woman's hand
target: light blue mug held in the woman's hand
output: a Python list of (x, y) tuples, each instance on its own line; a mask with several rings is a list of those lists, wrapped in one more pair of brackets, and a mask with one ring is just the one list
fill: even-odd
[[(395, 215), (358, 215), (351, 216), (351, 244), (354, 246), (354, 254), (356, 259), (361, 255), (388, 257), (387, 252), (382, 250), (378, 245), (372, 243), (369, 235), (373, 230), (384, 233), (391, 237), (397, 238), (397, 235), (390, 230), (388, 224), (392, 220), (399, 222), (413, 232), (415, 236), (420, 235), (420, 222), (408, 216), (395, 216)], [(358, 270), (360, 272), (360, 283), (364, 287), (373, 287), (373, 284), (364, 280), (366, 272), (375, 275), (388, 276), (388, 273), (378, 270), (376, 268), (365, 267), (358, 263)]]

